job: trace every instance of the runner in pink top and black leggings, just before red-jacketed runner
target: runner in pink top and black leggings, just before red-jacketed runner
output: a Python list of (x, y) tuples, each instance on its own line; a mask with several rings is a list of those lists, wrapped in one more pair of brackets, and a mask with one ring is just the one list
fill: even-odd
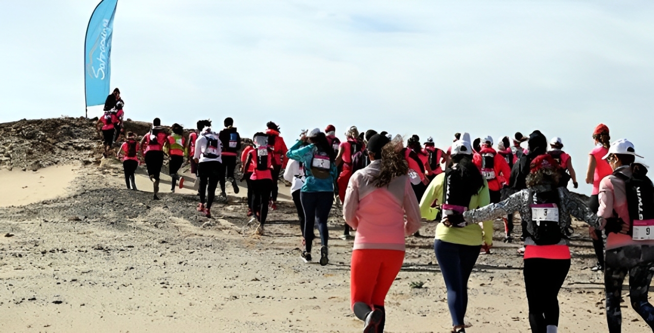
[(268, 144), (269, 136), (266, 133), (254, 134), (254, 149), (250, 150), (245, 168), (254, 165), (254, 171), (250, 175), (252, 185), (252, 211), (255, 219), (259, 222), (255, 234), (264, 234), (264, 224), (268, 216), (268, 200), (273, 190), (273, 149)]

